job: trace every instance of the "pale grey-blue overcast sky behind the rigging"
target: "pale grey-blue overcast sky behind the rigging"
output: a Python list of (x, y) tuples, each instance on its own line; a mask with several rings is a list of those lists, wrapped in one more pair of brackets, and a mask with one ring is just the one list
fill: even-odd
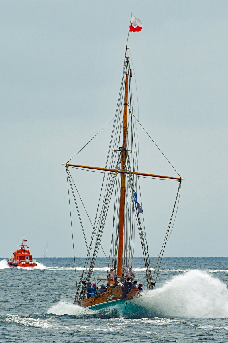
[[(3, 0), (1, 257), (22, 234), (34, 257), (47, 242), (48, 257), (73, 256), (62, 163), (115, 115), (131, 12), (139, 120), (186, 179), (164, 256), (228, 256), (228, 2)], [(159, 173), (150, 153), (145, 166)]]

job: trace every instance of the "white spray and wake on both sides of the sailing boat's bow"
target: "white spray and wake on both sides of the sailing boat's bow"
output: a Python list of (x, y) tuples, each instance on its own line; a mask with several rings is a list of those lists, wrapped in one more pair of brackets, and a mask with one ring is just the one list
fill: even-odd
[(164, 286), (143, 293), (126, 305), (90, 310), (64, 301), (49, 308), (55, 315), (104, 315), (111, 318), (227, 318), (228, 289), (219, 279), (207, 272), (191, 270), (173, 277)]

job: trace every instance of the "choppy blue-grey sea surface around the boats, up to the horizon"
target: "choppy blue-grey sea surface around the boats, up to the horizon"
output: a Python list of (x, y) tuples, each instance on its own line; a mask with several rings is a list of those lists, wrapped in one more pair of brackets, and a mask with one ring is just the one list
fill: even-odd
[[(84, 261), (76, 258), (77, 280)], [(146, 290), (143, 258), (135, 258), (144, 291), (127, 303), (124, 317), (119, 305), (73, 305), (73, 258), (37, 262), (9, 268), (0, 258), (0, 342), (228, 342), (228, 258), (163, 258), (153, 291)], [(95, 278), (106, 272), (106, 259), (98, 258)]]

